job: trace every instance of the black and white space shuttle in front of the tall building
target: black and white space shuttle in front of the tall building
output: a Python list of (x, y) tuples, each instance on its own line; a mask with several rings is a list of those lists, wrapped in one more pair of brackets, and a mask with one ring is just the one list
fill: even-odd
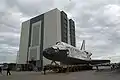
[(43, 50), (43, 56), (66, 65), (110, 63), (110, 60), (91, 59), (92, 53), (85, 50), (85, 40), (80, 49), (64, 42), (56, 42), (55, 45)]

